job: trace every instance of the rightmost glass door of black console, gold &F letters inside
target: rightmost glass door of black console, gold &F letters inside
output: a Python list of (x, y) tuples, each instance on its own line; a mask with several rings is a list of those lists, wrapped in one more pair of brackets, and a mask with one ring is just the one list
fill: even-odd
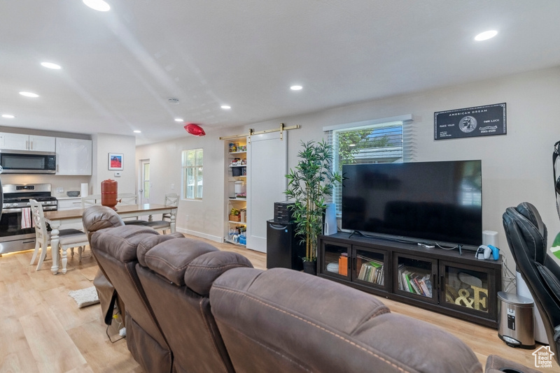
[(440, 304), (493, 318), (497, 302), (495, 279), (493, 270), (440, 261)]

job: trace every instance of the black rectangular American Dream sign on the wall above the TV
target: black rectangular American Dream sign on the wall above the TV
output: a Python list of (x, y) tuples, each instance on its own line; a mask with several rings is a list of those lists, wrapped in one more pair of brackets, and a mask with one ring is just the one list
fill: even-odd
[(505, 135), (505, 103), (433, 113), (434, 139)]

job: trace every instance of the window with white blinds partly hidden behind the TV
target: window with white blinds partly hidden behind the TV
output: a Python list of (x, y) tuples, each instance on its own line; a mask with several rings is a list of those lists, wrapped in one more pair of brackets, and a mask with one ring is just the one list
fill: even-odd
[[(410, 149), (405, 146), (406, 131), (403, 130), (403, 124), (412, 119), (412, 116), (398, 119), (324, 129), (326, 140), (332, 145), (334, 169), (342, 174), (342, 166), (345, 164), (395, 163), (410, 159)], [(341, 217), (342, 185), (335, 186), (332, 201), (336, 203), (337, 217)]]

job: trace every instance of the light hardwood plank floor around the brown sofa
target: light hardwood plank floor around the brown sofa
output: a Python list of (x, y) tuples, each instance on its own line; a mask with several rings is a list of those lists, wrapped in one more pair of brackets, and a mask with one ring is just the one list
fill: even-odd
[[(255, 268), (266, 268), (265, 254), (208, 242), (219, 249), (237, 251)], [(92, 286), (97, 264), (89, 248), (82, 263), (78, 263), (76, 254), (69, 258), (69, 272), (56, 276), (50, 273), (50, 253), (38, 272), (29, 265), (32, 253), (22, 251), (0, 258), (0, 372), (142, 372), (130, 356), (125, 339), (114, 343), (109, 340), (99, 305), (78, 309), (68, 295), (71, 290)], [(497, 354), (534, 367), (533, 351), (507, 346), (498, 339), (497, 330), (381, 300), (391, 312), (433, 323), (456, 335), (475, 351), (483, 366), (487, 356)], [(109, 335), (118, 339), (118, 329), (111, 327)], [(542, 372), (560, 369), (554, 363), (554, 368)]]

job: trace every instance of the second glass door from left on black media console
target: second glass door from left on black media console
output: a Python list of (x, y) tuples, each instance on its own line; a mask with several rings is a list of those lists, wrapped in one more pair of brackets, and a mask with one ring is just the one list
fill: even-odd
[(385, 288), (388, 271), (386, 251), (353, 246), (352, 257), (356, 260), (352, 279), (357, 284)]

